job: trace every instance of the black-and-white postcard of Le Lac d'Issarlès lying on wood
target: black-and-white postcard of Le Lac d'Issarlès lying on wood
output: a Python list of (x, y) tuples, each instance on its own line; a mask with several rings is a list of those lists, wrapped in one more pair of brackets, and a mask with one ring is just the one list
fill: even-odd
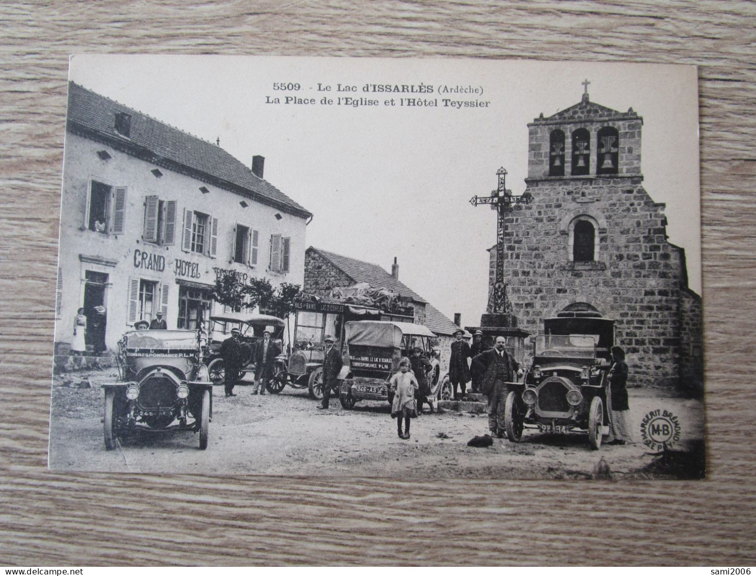
[(703, 478), (699, 206), (695, 67), (74, 56), (49, 466)]

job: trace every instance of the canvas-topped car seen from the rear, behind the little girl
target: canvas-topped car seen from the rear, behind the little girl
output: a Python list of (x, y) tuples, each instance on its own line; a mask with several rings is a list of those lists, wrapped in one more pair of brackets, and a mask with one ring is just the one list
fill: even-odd
[[(422, 324), (390, 321), (346, 323), (347, 363), (339, 374), (339, 401), (347, 409), (361, 400), (393, 400), (389, 379), (398, 372), (402, 356), (416, 346), (427, 355), (435, 334)], [(442, 383), (431, 373), (429, 398), (442, 397)], [(448, 393), (448, 391), (447, 391)]]

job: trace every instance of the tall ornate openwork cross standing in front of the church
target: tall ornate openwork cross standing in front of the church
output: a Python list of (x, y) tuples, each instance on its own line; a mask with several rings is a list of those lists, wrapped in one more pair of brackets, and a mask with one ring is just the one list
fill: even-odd
[(470, 199), (472, 206), (479, 204), (490, 204), (491, 210), (497, 211), (497, 228), (496, 228), (496, 276), (494, 277), (494, 290), (491, 290), (491, 296), (488, 298), (488, 312), (491, 314), (511, 314), (512, 305), (507, 299), (507, 284), (504, 283), (504, 231), (507, 225), (504, 224), (504, 215), (507, 212), (513, 212), (514, 204), (531, 203), (533, 197), (529, 192), (522, 196), (513, 196), (512, 190), (507, 189), (507, 170), (500, 168), (496, 171), (499, 179), (499, 185), (496, 190), (491, 190), (490, 196), (473, 196)]

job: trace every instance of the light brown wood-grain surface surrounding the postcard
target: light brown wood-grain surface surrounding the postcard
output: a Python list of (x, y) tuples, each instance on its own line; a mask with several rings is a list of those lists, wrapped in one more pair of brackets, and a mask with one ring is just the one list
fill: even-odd
[[(0, 564), (754, 564), (756, 4), (156, 4), (0, 4)], [(708, 479), (48, 472), (67, 55), (82, 52), (697, 64)]]

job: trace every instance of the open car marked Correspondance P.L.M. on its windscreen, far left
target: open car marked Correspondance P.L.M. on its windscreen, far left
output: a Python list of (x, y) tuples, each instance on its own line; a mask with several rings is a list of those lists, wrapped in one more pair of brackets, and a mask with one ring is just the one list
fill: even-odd
[(135, 330), (118, 343), (119, 381), (105, 389), (105, 447), (138, 430), (200, 433), (207, 447), (212, 382), (194, 330)]

